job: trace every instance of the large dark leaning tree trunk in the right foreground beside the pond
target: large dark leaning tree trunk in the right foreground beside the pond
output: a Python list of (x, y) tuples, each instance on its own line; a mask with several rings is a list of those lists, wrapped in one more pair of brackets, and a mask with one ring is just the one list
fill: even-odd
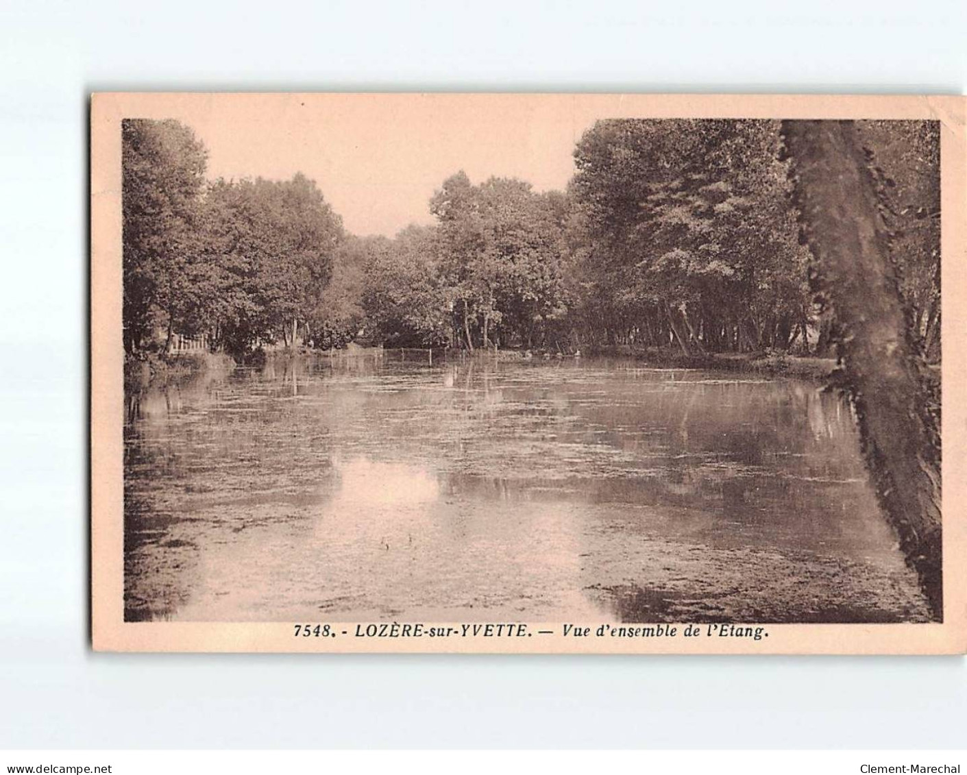
[(787, 121), (782, 132), (877, 497), (942, 619), (939, 434), (872, 175), (853, 122)]

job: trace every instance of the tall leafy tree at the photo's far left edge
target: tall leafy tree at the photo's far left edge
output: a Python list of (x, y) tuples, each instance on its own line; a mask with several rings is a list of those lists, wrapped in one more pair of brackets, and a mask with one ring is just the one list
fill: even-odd
[(124, 344), (134, 353), (156, 322), (197, 317), (199, 196), (206, 152), (177, 121), (125, 119), (122, 138)]

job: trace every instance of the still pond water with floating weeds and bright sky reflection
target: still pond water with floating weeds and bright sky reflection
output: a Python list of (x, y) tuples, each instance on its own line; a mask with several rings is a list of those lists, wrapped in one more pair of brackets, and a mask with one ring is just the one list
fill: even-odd
[(277, 359), (130, 395), (125, 474), (129, 620), (927, 618), (795, 380)]

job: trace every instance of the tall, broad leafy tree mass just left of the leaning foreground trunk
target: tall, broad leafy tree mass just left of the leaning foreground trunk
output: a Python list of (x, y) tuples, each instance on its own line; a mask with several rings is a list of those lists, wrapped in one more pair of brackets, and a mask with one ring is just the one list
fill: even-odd
[[(786, 349), (805, 331), (778, 125), (614, 120), (575, 149), (570, 193), (608, 340), (673, 340), (686, 355)], [(805, 334), (804, 334), (805, 335)]]

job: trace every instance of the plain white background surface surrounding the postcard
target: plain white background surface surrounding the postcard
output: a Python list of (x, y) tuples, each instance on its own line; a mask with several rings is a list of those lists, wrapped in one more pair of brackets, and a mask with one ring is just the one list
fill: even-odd
[(86, 625), (90, 92), (960, 94), (965, 21), (882, 0), (0, 4), (0, 747), (967, 745), (962, 658), (96, 655)]

